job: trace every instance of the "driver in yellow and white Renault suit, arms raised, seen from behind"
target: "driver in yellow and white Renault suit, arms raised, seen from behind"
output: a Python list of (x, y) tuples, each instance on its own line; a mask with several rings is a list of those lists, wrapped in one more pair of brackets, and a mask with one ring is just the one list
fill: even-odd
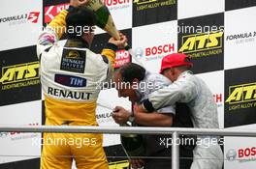
[[(120, 34), (120, 41), (111, 38), (101, 54), (93, 53), (89, 46), (96, 16), (81, 5), (71, 0), (70, 8), (52, 19), (37, 44), (47, 126), (98, 126), (99, 84), (112, 78), (115, 50), (127, 42)], [(79, 27), (83, 29), (75, 29)], [(63, 47), (58, 40), (64, 32), (68, 40)], [(43, 144), (41, 169), (70, 169), (73, 159), (78, 169), (109, 168), (102, 134), (44, 133)]]

